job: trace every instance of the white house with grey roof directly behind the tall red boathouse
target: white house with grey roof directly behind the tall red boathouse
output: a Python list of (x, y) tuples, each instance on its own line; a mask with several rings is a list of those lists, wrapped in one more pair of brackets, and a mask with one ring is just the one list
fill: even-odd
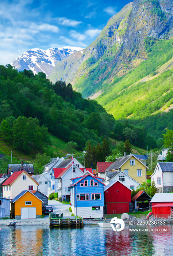
[(123, 171), (120, 172), (105, 172), (105, 178), (103, 180), (103, 183), (105, 185), (108, 185), (109, 182), (119, 180), (122, 182), (124, 186), (130, 189), (136, 190), (138, 186), (141, 184), (134, 180), (132, 177), (128, 176), (127, 173), (124, 173)]

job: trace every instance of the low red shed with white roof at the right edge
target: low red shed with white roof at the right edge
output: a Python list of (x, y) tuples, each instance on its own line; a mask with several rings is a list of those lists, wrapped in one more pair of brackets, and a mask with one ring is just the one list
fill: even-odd
[(171, 219), (173, 217), (173, 193), (155, 193), (151, 203), (154, 218)]

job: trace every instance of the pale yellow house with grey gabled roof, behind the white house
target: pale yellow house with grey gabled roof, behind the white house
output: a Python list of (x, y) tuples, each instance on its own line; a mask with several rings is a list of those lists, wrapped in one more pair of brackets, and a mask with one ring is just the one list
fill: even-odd
[(147, 166), (143, 162), (141, 162), (137, 157), (130, 154), (125, 157), (119, 157), (114, 163), (112, 163), (112, 165), (110, 165), (105, 170), (105, 172), (123, 171), (128, 176), (132, 177), (134, 180), (142, 184), (143, 182), (146, 182), (146, 170)]

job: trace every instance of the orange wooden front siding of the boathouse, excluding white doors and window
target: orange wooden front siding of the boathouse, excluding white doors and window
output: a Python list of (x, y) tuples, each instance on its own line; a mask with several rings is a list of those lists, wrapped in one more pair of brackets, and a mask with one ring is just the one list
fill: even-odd
[[(25, 201), (31, 201), (32, 205), (25, 205)], [(15, 216), (21, 215), (21, 207), (36, 207), (36, 215), (42, 215), (42, 202), (32, 193), (26, 192), (15, 203)]]

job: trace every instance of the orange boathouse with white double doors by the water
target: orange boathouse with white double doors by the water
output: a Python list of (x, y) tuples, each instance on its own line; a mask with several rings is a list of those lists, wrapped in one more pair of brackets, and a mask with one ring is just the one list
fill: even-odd
[(29, 190), (22, 191), (11, 201), (11, 214), (15, 219), (35, 219), (42, 215), (42, 200)]

